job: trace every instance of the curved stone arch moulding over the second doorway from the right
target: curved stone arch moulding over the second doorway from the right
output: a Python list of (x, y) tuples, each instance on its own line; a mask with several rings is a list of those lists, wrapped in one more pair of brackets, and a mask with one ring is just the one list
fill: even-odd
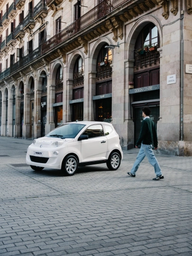
[[(99, 38), (96, 42), (95, 45), (92, 48), (91, 55), (90, 55), (90, 60), (89, 60), (89, 71), (94, 71), (96, 72), (96, 66), (97, 66), (97, 57), (98, 54), (101, 50), (101, 47), (104, 44), (112, 45), (113, 42), (109, 37), (101, 37)], [(113, 49), (112, 50), (112, 55), (113, 55)]]

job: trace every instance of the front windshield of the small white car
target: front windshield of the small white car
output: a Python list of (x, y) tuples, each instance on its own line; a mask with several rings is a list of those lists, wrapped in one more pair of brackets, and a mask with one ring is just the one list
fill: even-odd
[(83, 124), (64, 124), (55, 128), (48, 133), (46, 137), (58, 137), (58, 138), (74, 138), (82, 130), (85, 125)]

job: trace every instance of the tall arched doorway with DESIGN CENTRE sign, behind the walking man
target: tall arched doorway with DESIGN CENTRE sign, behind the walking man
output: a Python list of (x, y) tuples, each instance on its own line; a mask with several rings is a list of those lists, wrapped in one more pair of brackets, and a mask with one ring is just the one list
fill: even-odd
[(150, 22), (140, 31), (134, 50), (134, 88), (129, 90), (133, 93), (133, 115), (135, 144), (140, 134), (142, 124), (142, 108), (149, 106), (150, 118), (155, 124), (159, 120), (160, 105), (160, 58), (159, 33), (154, 23)]

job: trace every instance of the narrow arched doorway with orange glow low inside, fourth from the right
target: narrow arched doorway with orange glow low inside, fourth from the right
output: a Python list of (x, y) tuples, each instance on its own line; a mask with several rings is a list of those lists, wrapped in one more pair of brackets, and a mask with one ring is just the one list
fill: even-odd
[(55, 77), (55, 128), (63, 124), (63, 68), (58, 66)]

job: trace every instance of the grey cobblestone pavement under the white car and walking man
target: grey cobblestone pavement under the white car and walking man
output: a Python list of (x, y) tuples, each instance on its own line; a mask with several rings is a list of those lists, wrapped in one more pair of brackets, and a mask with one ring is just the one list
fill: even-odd
[(146, 159), (127, 175), (136, 148), (66, 177), (26, 165), (29, 144), (0, 137), (0, 255), (192, 256), (192, 157), (156, 155), (160, 181)]

